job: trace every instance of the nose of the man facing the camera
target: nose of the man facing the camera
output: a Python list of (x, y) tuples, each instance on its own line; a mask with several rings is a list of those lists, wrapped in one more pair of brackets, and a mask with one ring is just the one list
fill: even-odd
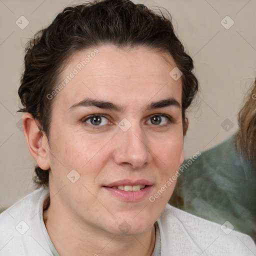
[(146, 135), (139, 125), (131, 125), (126, 131), (119, 129), (115, 135), (115, 163), (130, 165), (134, 169), (144, 167), (152, 160), (147, 144)]

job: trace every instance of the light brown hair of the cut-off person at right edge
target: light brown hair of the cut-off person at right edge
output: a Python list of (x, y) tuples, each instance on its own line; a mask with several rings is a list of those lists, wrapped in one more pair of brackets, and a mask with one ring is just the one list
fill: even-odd
[(256, 163), (256, 79), (246, 94), (245, 103), (238, 112), (239, 130), (235, 145), (239, 153)]

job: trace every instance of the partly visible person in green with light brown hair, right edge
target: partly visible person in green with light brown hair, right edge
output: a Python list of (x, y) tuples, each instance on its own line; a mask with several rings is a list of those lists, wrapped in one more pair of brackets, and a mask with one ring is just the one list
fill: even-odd
[(169, 203), (196, 216), (229, 225), (256, 242), (255, 94), (251, 85), (238, 112), (238, 130), (180, 166)]

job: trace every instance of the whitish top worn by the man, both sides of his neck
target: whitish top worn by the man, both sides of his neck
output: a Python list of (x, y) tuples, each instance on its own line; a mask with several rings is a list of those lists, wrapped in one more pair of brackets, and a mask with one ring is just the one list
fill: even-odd
[[(37, 189), (0, 214), (1, 256), (56, 256), (42, 213), (47, 190)], [(155, 223), (153, 256), (255, 256), (245, 234), (166, 204)]]

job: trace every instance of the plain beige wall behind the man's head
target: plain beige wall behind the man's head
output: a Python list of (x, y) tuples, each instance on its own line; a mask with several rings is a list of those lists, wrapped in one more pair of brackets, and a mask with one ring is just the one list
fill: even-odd
[[(49, 24), (70, 0), (0, 0), (0, 207), (32, 188), (34, 160), (19, 127), (17, 89), (28, 38)], [(193, 57), (201, 93), (189, 111), (185, 155), (218, 143), (237, 128), (236, 114), (256, 70), (255, 0), (134, 0), (165, 7)], [(221, 20), (225, 18), (224, 26)], [(20, 16), (24, 16), (29, 24)], [(17, 23), (21, 28), (15, 23)], [(226, 119), (234, 126), (226, 131)], [(231, 126), (229, 125), (228, 129)]]

